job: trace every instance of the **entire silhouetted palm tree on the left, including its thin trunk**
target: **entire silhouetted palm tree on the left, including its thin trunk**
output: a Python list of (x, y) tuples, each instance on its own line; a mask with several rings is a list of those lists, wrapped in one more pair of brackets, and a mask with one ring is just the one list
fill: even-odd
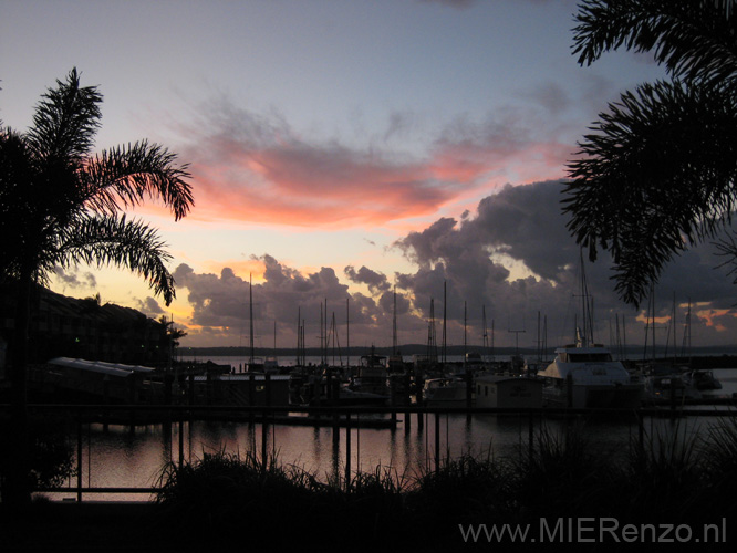
[[(175, 154), (146, 140), (93, 154), (102, 100), (73, 69), (41, 96), (25, 133), (0, 124), (0, 278), (18, 284), (11, 378), (20, 472), (28, 470), (21, 451), (34, 284), (45, 283), (55, 265), (114, 264), (142, 275), (167, 305), (175, 296), (166, 244), (123, 209), (155, 198), (176, 220), (185, 217), (194, 206), (190, 175)], [(28, 501), (23, 474), (13, 477), (3, 500)]]

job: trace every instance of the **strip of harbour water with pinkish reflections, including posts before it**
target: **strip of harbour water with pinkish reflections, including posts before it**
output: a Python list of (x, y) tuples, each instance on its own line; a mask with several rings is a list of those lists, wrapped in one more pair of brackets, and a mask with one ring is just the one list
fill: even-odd
[[(717, 369), (715, 374), (723, 384), (719, 392), (737, 392), (737, 369)], [(515, 380), (504, 378), (498, 382)], [(525, 378), (518, 380), (527, 382)], [(477, 384), (484, 382), (481, 378)], [(216, 407), (211, 409), (217, 410)], [(206, 453), (216, 452), (246, 455), (250, 451), (274, 456), (280, 462), (301, 467), (324, 479), (346, 470), (372, 471), (377, 467), (405, 474), (421, 473), (432, 470), (438, 459), (464, 453), (523, 455), (533, 435), (542, 429), (562, 430), (571, 420), (585, 420), (587, 436), (595, 447), (615, 453), (621, 452), (639, 432), (655, 436), (674, 429), (686, 434), (705, 431), (722, 415), (731, 416), (734, 408), (728, 405), (681, 406), (675, 414), (669, 407), (648, 409), (640, 424), (634, 411), (619, 410), (595, 418), (574, 411), (578, 415), (571, 419), (548, 417), (534, 410), (533, 415), (500, 414), (494, 413), (491, 407), (486, 411), (484, 407), (477, 407), (471, 413), (465, 408), (421, 407), (384, 408), (374, 413), (378, 408), (345, 407), (345, 413), (351, 413), (350, 421), (322, 411), (318, 422), (304, 410), (289, 413), (286, 409), (272, 408), (266, 418), (255, 416), (249, 419), (243, 415), (241, 420), (230, 416), (204, 416), (207, 407), (201, 407), (200, 416), (190, 419), (190, 414), (183, 410), (169, 422), (81, 422), (69, 432), (81, 480), (71, 479), (65, 484), (69, 492), (54, 492), (52, 497), (81, 499), (76, 490), (80, 488), (86, 490), (83, 494), (86, 500), (145, 501), (152, 491), (125, 490), (152, 490), (167, 463), (193, 462)], [(289, 418), (284, 417), (287, 415)]]

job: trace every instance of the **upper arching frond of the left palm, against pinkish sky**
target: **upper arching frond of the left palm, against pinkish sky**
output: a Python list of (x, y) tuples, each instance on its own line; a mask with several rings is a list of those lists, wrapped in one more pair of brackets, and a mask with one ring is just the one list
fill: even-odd
[(178, 220), (189, 212), (194, 197), (187, 166), (177, 167), (175, 161), (175, 154), (147, 140), (103, 150), (84, 171), (86, 204), (114, 215), (146, 197), (159, 198)]

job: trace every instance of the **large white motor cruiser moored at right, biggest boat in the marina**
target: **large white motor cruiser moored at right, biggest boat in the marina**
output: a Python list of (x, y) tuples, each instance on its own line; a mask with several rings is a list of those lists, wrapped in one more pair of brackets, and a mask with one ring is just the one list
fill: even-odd
[(543, 404), (549, 407), (636, 408), (643, 400), (644, 385), (633, 382), (621, 362), (600, 344), (575, 345), (556, 349), (556, 358), (544, 371)]

